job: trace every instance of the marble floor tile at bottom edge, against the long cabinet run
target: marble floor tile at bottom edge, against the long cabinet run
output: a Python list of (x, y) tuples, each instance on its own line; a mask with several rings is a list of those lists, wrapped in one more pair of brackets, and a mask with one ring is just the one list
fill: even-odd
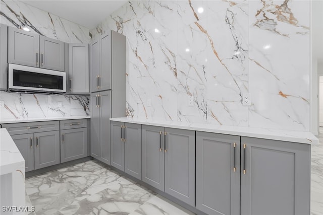
[(173, 203), (163, 196), (156, 195), (151, 197), (147, 202), (129, 215), (192, 215), (189, 210)]

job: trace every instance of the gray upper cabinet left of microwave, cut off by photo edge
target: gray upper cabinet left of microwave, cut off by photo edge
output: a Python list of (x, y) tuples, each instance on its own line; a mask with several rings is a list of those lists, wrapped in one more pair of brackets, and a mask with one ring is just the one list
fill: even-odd
[(7, 89), (8, 26), (0, 24), (0, 90)]

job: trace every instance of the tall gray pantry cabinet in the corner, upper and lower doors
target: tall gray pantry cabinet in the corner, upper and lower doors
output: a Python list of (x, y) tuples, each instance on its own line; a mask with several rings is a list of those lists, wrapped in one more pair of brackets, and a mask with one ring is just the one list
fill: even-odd
[(126, 115), (126, 37), (107, 31), (89, 47), (91, 156), (111, 165), (110, 118)]

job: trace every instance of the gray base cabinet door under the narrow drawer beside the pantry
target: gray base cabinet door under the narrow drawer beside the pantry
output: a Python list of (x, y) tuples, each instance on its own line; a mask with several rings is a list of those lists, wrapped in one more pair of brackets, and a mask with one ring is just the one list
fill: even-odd
[(61, 163), (86, 157), (87, 128), (61, 130)]

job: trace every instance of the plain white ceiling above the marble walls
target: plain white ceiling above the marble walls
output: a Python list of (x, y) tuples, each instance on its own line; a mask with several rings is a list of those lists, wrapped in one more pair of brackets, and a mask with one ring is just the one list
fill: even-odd
[(57, 15), (88, 29), (123, 6), (126, 0), (22, 0), (35, 8)]

